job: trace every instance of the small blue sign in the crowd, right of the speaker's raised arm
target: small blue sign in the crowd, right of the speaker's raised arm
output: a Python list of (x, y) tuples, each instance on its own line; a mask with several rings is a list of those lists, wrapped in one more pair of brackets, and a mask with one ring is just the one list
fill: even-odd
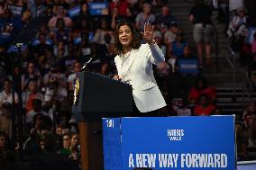
[(178, 59), (178, 73), (197, 74), (198, 60), (197, 59)]

